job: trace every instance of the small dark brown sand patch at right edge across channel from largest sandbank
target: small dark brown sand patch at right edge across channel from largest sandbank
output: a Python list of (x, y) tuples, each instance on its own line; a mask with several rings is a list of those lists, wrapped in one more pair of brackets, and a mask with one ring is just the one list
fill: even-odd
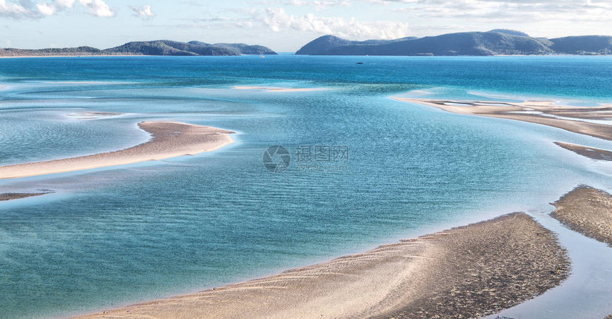
[(588, 186), (576, 187), (553, 204), (551, 216), (569, 229), (612, 247), (612, 195)]

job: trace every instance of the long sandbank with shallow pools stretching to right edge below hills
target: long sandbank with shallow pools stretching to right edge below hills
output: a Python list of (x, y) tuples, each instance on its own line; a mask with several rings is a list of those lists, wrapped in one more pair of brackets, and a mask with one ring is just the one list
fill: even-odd
[[(612, 117), (610, 106), (581, 108), (576, 106), (557, 106), (552, 102), (527, 101), (506, 103), (495, 101), (454, 101), (423, 100), (413, 98), (394, 98), (404, 102), (433, 106), (452, 113), (499, 117), (568, 130), (569, 132), (591, 135), (604, 140), (612, 140), (612, 125), (586, 122), (589, 120), (608, 120)], [(571, 117), (575, 120), (558, 117)]]

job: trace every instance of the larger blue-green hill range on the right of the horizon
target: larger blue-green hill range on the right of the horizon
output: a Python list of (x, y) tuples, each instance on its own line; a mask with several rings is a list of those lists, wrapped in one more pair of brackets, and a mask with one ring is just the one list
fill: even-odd
[[(349, 41), (321, 36), (295, 54), (339, 56), (496, 56), (543, 54), (612, 54), (609, 36), (532, 38), (520, 31), (448, 33), (391, 41)], [(606, 51), (607, 50), (607, 51)]]

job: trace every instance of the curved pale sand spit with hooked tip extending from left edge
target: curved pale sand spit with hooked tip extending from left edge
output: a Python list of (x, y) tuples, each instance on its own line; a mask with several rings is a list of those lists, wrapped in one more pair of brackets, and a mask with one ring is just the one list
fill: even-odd
[(179, 122), (139, 122), (152, 135), (140, 145), (95, 155), (0, 167), (0, 179), (38, 176), (122, 164), (164, 160), (216, 150), (233, 142), (231, 131)]

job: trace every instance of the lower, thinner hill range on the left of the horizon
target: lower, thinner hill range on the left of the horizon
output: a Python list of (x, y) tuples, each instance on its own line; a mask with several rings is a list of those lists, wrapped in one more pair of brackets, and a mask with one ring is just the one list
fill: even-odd
[(125, 43), (115, 48), (100, 50), (89, 46), (78, 48), (43, 48), (24, 50), (0, 49), (0, 56), (240, 56), (241, 54), (276, 54), (265, 46), (248, 46), (244, 43), (209, 44), (200, 41), (189, 43), (158, 40)]

